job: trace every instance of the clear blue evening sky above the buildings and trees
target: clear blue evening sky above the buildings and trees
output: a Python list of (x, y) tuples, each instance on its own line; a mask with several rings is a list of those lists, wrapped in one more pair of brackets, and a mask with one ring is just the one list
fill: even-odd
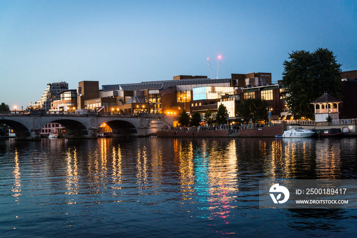
[[(99, 85), (230, 78), (282, 79), (294, 50), (328, 48), (357, 69), (356, 1), (3, 1), (0, 103), (26, 107), (48, 83)], [(350, 66), (348, 68), (348, 66)]]

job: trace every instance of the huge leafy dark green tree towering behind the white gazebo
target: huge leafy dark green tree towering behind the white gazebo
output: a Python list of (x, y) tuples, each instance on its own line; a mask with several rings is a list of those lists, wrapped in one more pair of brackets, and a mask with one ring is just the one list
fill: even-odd
[(327, 92), (339, 98), (342, 89), (341, 64), (328, 49), (318, 48), (314, 52), (300, 50), (289, 54), (284, 61), (283, 85), (286, 102), (293, 115), (312, 118), (311, 101)]

